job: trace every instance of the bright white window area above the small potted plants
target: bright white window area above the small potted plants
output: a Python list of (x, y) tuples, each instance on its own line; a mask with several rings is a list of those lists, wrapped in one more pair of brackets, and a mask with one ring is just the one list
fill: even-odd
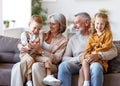
[(2, 5), (3, 20), (16, 20), (15, 27), (28, 27), (31, 0), (3, 0)]

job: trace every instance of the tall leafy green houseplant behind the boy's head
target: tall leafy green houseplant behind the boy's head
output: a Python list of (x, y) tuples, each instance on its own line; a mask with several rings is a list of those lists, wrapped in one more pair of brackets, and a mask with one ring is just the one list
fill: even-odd
[(44, 9), (42, 7), (42, 0), (32, 0), (32, 15), (41, 15), (43, 19), (43, 24), (46, 24), (46, 14), (47, 14), (47, 9)]

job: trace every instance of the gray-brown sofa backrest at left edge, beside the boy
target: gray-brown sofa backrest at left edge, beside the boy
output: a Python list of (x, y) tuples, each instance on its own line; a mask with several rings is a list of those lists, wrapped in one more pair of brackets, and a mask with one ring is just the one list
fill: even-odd
[(19, 61), (17, 44), (20, 39), (0, 36), (0, 62), (16, 63)]

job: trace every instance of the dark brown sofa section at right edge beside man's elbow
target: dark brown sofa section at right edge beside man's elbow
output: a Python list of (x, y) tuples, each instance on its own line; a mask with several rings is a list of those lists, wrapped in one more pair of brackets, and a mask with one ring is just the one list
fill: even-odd
[(119, 73), (120, 72), (120, 41), (113, 41), (113, 43), (117, 47), (118, 56), (116, 56), (114, 59), (108, 62), (109, 64), (108, 72)]

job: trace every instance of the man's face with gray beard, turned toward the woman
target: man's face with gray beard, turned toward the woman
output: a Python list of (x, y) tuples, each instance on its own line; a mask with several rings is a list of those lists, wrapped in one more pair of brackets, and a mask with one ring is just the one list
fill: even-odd
[(84, 23), (80, 16), (75, 17), (74, 28), (76, 30), (76, 33), (82, 33), (84, 31)]

